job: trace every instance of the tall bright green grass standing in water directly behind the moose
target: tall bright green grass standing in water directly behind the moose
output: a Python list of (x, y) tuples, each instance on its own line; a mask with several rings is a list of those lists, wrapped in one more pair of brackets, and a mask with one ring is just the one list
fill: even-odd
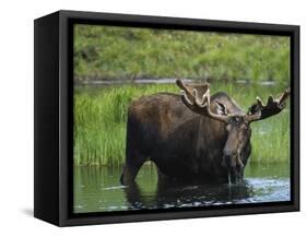
[[(212, 94), (228, 93), (245, 110), (256, 96), (278, 95), (284, 86), (213, 83)], [(110, 165), (125, 163), (127, 109), (132, 99), (157, 92), (175, 92), (176, 85), (121, 85), (76, 87), (74, 93), (74, 164)], [(250, 163), (290, 161), (290, 106), (278, 116), (252, 123)]]

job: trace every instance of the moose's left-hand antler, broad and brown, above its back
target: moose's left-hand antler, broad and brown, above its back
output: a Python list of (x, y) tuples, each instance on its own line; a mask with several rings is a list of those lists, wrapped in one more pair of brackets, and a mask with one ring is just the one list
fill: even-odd
[[(212, 119), (227, 122), (228, 117), (225, 115), (217, 115), (210, 110), (210, 84), (204, 85), (186, 85), (181, 80), (177, 80), (176, 84), (182, 90), (182, 102), (193, 111), (205, 115)], [(199, 92), (202, 95), (199, 95)]]

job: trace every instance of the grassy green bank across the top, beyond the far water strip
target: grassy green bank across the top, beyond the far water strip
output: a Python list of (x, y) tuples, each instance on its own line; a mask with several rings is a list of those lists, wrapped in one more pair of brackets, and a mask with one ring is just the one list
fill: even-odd
[(290, 78), (290, 38), (76, 25), (75, 81), (189, 78), (276, 81)]

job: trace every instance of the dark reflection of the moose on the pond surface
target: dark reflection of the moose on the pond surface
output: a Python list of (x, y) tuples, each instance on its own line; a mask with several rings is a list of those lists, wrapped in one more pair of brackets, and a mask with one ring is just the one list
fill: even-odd
[(156, 192), (151, 197), (142, 193), (138, 182), (132, 182), (123, 191), (130, 210), (231, 204), (236, 200), (241, 203), (241, 200), (253, 197), (253, 190), (247, 182), (229, 186), (158, 181)]

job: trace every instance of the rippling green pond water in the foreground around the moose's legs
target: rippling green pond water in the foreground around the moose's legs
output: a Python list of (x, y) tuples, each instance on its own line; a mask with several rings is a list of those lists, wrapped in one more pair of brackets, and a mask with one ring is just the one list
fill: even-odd
[(119, 182), (121, 167), (74, 167), (74, 213), (290, 201), (290, 165), (248, 165), (240, 185), (158, 183), (144, 165), (137, 185)]

